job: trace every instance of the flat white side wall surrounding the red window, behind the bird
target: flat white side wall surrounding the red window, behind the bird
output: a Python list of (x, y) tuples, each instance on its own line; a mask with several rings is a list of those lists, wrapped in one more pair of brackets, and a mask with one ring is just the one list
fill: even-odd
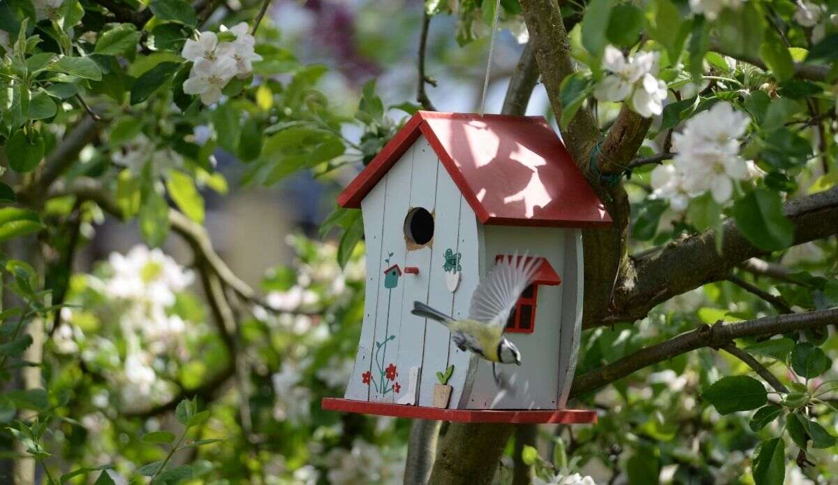
[[(572, 230), (570, 230), (572, 232)], [(562, 284), (540, 285), (535, 310), (535, 332), (507, 333), (521, 352), (521, 366), (499, 364), (499, 372), (510, 379), (515, 392), (499, 391), (494, 383), (492, 366), (479, 359), (474, 370), (469, 409), (556, 409), (560, 397), (558, 375), (561, 361), (567, 359), (562, 342), (562, 307), (564, 289), (572, 285), (576, 274), (566, 274), (566, 232), (556, 227), (484, 226), (484, 273), (494, 267), (498, 254), (528, 252), (547, 258), (562, 279)], [(574, 268), (575, 269), (575, 268)], [(574, 295), (575, 296), (575, 295)], [(566, 372), (566, 366), (564, 368)], [(468, 386), (467, 386), (468, 387)]]

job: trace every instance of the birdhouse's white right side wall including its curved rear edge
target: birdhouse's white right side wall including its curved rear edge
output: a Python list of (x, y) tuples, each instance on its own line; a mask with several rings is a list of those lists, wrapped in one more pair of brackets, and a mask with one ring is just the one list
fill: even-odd
[[(522, 355), (521, 366), (499, 365), (515, 393), (500, 392), (491, 363), (479, 359), (468, 402), (469, 409), (557, 409), (566, 374), (572, 373), (572, 352), (578, 342), (577, 310), (582, 305), (582, 235), (558, 227), (482, 227), (481, 271), (494, 267), (498, 254), (527, 252), (546, 258), (561, 275), (558, 285), (539, 285), (532, 333), (506, 333)], [(556, 378), (559, 376), (559, 378)]]

